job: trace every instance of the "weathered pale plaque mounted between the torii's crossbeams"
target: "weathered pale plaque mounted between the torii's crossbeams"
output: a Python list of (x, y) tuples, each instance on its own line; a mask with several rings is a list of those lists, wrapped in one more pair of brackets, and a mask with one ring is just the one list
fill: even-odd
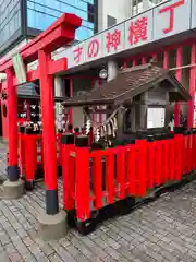
[(26, 83), (26, 69), (22, 56), (16, 52), (12, 57), (13, 68), (15, 76), (17, 79), (17, 84)]

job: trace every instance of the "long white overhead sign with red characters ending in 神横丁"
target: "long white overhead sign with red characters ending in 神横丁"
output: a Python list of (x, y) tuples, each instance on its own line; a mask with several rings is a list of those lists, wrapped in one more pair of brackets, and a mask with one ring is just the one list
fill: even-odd
[(171, 0), (68, 48), (63, 56), (73, 68), (193, 28), (196, 0)]

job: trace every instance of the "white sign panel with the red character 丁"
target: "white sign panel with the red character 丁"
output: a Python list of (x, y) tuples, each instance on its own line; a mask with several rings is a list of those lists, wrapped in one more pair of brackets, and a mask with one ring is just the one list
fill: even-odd
[(154, 10), (154, 40), (188, 31), (189, 17), (191, 0), (172, 0), (156, 8)]

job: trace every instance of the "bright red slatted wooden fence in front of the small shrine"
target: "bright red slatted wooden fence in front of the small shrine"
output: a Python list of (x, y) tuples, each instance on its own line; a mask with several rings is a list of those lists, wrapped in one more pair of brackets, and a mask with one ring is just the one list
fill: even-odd
[(76, 218), (84, 222), (91, 218), (91, 211), (180, 181), (196, 169), (195, 154), (196, 134), (139, 140), (91, 153), (87, 147), (62, 145), (64, 210), (76, 210)]

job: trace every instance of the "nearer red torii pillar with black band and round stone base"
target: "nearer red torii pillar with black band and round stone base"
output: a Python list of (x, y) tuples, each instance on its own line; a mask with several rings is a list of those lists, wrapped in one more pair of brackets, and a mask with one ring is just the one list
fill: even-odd
[(49, 74), (51, 55), (38, 51), (40, 70), (40, 100), (44, 138), (44, 170), (46, 188), (46, 213), (38, 216), (39, 233), (46, 240), (63, 237), (66, 216), (59, 211), (57, 176), (57, 138), (54, 126), (53, 78)]

